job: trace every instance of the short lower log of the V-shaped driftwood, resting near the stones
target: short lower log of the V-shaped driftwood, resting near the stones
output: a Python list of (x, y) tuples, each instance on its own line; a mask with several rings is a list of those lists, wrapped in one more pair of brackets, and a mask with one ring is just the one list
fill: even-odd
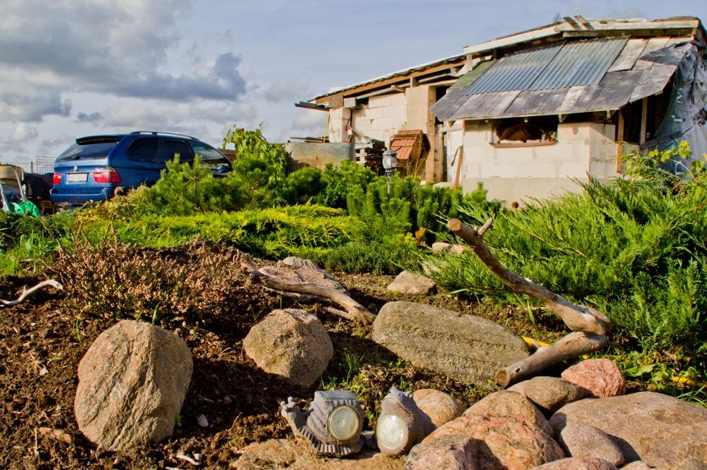
[(589, 335), (574, 331), (552, 345), (540, 346), (525, 359), (500, 369), (496, 372), (496, 384), (506, 388), (512, 383), (530, 379), (539, 370), (589, 354), (603, 348), (606, 344), (607, 337), (604, 335)]

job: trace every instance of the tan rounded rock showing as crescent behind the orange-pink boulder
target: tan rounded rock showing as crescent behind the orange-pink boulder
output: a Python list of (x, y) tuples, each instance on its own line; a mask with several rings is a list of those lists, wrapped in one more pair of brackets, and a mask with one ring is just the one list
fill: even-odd
[(537, 425), (547, 435), (552, 435), (552, 428), (542, 412), (530, 400), (515, 391), (501, 390), (486, 395), (470, 406), (464, 415), (489, 415), (513, 418)]

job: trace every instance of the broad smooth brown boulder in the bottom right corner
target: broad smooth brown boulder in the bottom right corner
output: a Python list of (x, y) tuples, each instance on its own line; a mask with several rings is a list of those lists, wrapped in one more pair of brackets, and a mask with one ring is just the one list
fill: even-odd
[(550, 418), (556, 433), (571, 423), (604, 431), (621, 448), (625, 462), (642, 460), (665, 469), (685, 459), (707, 463), (707, 409), (672, 396), (643, 391), (584, 399)]

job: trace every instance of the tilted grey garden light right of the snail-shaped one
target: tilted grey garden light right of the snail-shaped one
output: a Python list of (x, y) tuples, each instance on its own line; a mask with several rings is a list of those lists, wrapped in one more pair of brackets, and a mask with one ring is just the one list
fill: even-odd
[(375, 440), (380, 452), (402, 454), (424, 439), (434, 429), (428, 415), (415, 401), (395, 386), (380, 403), (380, 416), (375, 426)]

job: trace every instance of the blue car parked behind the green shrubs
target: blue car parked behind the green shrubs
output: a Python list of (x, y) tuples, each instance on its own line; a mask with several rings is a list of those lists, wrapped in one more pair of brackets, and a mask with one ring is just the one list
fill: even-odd
[(183, 162), (194, 161), (198, 154), (214, 176), (226, 176), (231, 169), (220, 151), (187, 135), (135, 131), (81, 137), (54, 162), (49, 197), (54, 204), (82, 205), (109, 200), (117, 191), (153, 185), (175, 154)]

